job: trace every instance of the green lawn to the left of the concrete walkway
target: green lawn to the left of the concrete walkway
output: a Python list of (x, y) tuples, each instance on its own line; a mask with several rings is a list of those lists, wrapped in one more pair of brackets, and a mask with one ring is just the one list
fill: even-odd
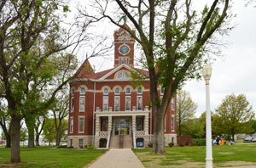
[[(106, 150), (73, 149), (73, 148), (20, 148), (20, 157), (23, 163), (13, 167), (84, 167)], [(10, 148), (0, 148), (0, 167), (9, 167)]]

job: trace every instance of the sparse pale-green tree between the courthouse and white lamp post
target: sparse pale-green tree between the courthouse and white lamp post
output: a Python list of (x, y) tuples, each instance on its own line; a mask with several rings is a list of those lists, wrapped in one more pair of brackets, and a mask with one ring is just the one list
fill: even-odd
[(194, 117), (197, 104), (190, 97), (189, 92), (180, 90), (177, 92), (177, 132), (182, 135), (183, 122)]

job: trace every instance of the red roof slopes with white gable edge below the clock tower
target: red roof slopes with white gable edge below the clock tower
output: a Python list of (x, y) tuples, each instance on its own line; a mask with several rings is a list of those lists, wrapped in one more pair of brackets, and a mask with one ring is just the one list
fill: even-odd
[[(120, 64), (120, 65), (119, 65), (118, 67), (116, 67), (116, 68), (113, 68), (113, 69), (110, 69), (110, 70), (102, 71), (102, 72), (104, 72), (104, 73), (98, 72), (98, 73), (102, 73), (102, 74), (104, 74), (104, 75), (103, 75), (102, 77), (99, 77), (99, 78), (97, 77), (97, 79), (103, 81), (103, 80), (107, 79), (108, 76), (113, 75), (115, 72), (117, 72), (118, 70), (121, 70), (122, 68), (125, 68), (125, 69), (130, 70), (130, 71), (136, 70), (136, 71), (138, 71), (140, 74), (142, 74), (143, 76), (146, 76), (146, 77), (149, 76), (149, 73), (148, 73), (147, 70), (141, 70), (141, 69), (137, 69), (137, 68), (132, 68), (132, 67), (128, 66), (127, 64)], [(98, 73), (97, 73), (97, 74), (98, 74)]]

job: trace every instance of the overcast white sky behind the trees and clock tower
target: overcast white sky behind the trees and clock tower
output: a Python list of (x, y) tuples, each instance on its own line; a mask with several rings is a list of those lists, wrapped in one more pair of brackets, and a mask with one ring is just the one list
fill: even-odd
[[(205, 2), (197, 0), (196, 3), (203, 7)], [(255, 4), (245, 7), (245, 1), (236, 1), (233, 4), (232, 13), (237, 16), (231, 25), (235, 25), (235, 28), (230, 31), (229, 36), (224, 36), (224, 42), (228, 42), (228, 45), (222, 48), (224, 56), (212, 64), (212, 111), (217, 109), (226, 95), (232, 93), (245, 94), (256, 111), (256, 8), (253, 6)], [(113, 37), (113, 30), (116, 29), (118, 27), (105, 21), (100, 30)], [(84, 56), (79, 55), (79, 59), (84, 59)], [(90, 64), (96, 67), (96, 71), (113, 68), (113, 56), (90, 59)], [(187, 81), (183, 89), (189, 91), (193, 101), (198, 104), (195, 116), (199, 117), (206, 110), (205, 81)]]

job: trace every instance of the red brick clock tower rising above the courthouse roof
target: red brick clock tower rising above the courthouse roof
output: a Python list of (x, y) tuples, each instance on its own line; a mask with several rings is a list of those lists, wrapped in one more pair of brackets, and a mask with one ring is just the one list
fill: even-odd
[[(128, 25), (124, 25), (127, 29), (131, 30)], [(135, 31), (132, 31), (135, 33)], [(114, 64), (113, 67), (117, 67), (120, 64), (127, 64), (133, 67), (134, 59), (134, 42), (135, 39), (125, 31), (123, 28), (114, 31)]]

